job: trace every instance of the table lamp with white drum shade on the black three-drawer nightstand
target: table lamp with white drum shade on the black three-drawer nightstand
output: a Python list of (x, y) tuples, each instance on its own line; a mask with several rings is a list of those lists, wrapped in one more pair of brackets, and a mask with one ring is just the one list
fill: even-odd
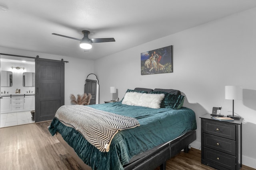
[(240, 119), (240, 116), (234, 115), (234, 100), (242, 100), (243, 89), (242, 86), (225, 86), (225, 99), (233, 100), (233, 115), (227, 117), (233, 119)]

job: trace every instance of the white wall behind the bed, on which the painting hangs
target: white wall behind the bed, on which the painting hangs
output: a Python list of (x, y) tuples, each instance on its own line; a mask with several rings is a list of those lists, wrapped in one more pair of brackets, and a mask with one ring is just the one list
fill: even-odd
[[(140, 75), (140, 53), (173, 45), (173, 73)], [(151, 41), (98, 59), (94, 73), (100, 82), (100, 103), (111, 100), (109, 87), (122, 98), (127, 88), (173, 88), (186, 96), (185, 107), (196, 112), (200, 149), (200, 115), (222, 106), (230, 114), (224, 86), (243, 86), (235, 112), (244, 118), (242, 164), (256, 168), (256, 8)]]

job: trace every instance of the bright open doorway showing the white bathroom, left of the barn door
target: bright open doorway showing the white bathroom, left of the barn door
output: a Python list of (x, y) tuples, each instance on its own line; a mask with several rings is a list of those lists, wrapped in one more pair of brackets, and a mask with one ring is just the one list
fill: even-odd
[(0, 127), (34, 123), (34, 59), (1, 55)]

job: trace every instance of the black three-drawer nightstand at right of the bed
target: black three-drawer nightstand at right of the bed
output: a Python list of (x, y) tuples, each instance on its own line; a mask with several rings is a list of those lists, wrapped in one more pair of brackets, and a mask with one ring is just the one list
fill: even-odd
[(218, 121), (201, 117), (201, 163), (219, 170), (242, 167), (242, 121)]

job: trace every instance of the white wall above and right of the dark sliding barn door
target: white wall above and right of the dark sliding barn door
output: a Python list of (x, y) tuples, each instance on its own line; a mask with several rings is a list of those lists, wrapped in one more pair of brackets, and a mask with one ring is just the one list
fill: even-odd
[[(86, 59), (78, 59), (74, 57), (65, 57), (59, 55), (51, 55), (46, 53), (38, 53), (32, 51), (24, 51), (18, 49), (10, 49), (5, 47), (0, 47), (0, 53), (12, 54), (12, 55), (22, 55), (29, 57), (36, 57), (44, 59), (53, 59), (68, 61), (65, 63), (65, 104), (70, 105), (70, 94), (83, 94), (85, 79), (88, 74), (94, 71), (94, 61)], [(1, 64), (1, 69), (4, 68), (4, 64)], [(26, 68), (26, 67), (25, 67)], [(19, 88), (13, 85), (13, 88)], [(22, 84), (20, 86), (22, 88)], [(1, 91), (3, 91), (1, 88)], [(15, 92), (14, 92), (15, 93)]]

